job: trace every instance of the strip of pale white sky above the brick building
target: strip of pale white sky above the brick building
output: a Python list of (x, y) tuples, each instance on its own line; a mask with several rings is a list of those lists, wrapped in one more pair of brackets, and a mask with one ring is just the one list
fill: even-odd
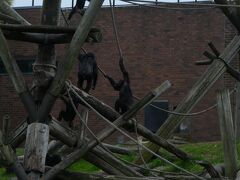
[[(153, 1), (155, 0), (148, 0), (148, 1)], [(177, 2), (177, 0), (158, 0), (159, 2)], [(193, 2), (194, 0), (180, 0), (180, 2), (186, 2), (186, 1), (191, 1)], [(200, 0), (201, 1), (201, 0)], [(41, 6), (43, 0), (34, 0), (34, 5), (35, 6)], [(75, 0), (76, 2), (76, 0)], [(128, 3), (125, 3), (120, 0), (115, 0), (117, 5), (126, 5)], [(88, 5), (88, 2), (86, 2), (86, 5)], [(104, 5), (109, 5), (109, 0), (104, 1)], [(32, 0), (14, 0), (13, 1), (13, 6), (14, 7), (24, 7), (24, 6), (32, 6)], [(72, 6), (72, 0), (62, 0), (62, 7), (71, 7)]]

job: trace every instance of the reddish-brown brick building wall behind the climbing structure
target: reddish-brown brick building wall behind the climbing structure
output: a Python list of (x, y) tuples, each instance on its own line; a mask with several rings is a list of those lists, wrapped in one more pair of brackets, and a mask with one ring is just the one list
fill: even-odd
[[(38, 24), (40, 21), (39, 8), (21, 8), (17, 11), (32, 24)], [(160, 99), (168, 100), (170, 107), (180, 103), (207, 68), (194, 65), (196, 60), (205, 59), (202, 53), (208, 49), (207, 43), (212, 41), (222, 51), (235, 33), (221, 11), (216, 8), (170, 10), (127, 6), (117, 7), (115, 13), (120, 44), (134, 94), (143, 97), (163, 81), (169, 80), (172, 87)], [(76, 26), (79, 20), (80, 16), (76, 15), (70, 25)], [(64, 21), (61, 21), (62, 25), (65, 25)], [(85, 44), (84, 48), (94, 52), (99, 66), (107, 74), (118, 79), (121, 73), (110, 8), (101, 9), (94, 26), (102, 30), (103, 41), (99, 44)], [(9, 47), (19, 61), (33, 61), (36, 58), (35, 44), (9, 41)], [(66, 48), (68, 45), (57, 45), (58, 61), (64, 58)], [(70, 75), (74, 83), (77, 81), (76, 74), (77, 64)], [(28, 72), (24, 76), (30, 86), (32, 73)], [(24, 119), (25, 110), (4, 73), (0, 75), (0, 84), (0, 117), (10, 114), (15, 127)], [(215, 104), (216, 90), (224, 84), (232, 87), (232, 79), (228, 76), (220, 78), (192, 112)], [(111, 106), (118, 95), (100, 73), (97, 88), (91, 93)], [(53, 109), (55, 116), (61, 107), (62, 102), (57, 101)], [(144, 112), (141, 111), (137, 117), (143, 123)], [(219, 139), (216, 109), (188, 119), (191, 122), (192, 140)], [(95, 132), (105, 126), (94, 114), (90, 114), (89, 124)]]

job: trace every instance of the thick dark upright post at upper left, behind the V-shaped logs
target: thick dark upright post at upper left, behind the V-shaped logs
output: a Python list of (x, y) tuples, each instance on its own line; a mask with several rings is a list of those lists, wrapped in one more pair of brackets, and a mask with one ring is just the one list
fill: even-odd
[[(60, 19), (61, 0), (43, 1), (41, 24), (58, 25)], [(38, 105), (48, 89), (48, 86), (55, 76), (56, 54), (54, 44), (39, 44), (36, 62), (33, 64), (35, 86), (33, 97)], [(43, 119), (42, 121), (45, 121)]]

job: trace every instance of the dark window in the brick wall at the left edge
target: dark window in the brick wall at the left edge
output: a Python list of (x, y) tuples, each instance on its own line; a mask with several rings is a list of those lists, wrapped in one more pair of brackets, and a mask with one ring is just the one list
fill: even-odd
[[(17, 60), (17, 64), (19, 69), (22, 71), (24, 74), (29, 74), (32, 73), (32, 64), (34, 63), (34, 59), (19, 59)], [(4, 67), (3, 62), (0, 60), (0, 74), (7, 74), (7, 71)]]

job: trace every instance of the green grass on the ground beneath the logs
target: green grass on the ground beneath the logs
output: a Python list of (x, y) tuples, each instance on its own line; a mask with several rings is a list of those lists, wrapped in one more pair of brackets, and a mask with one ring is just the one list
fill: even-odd
[[(212, 164), (218, 164), (223, 162), (223, 147), (221, 142), (210, 142), (210, 143), (196, 143), (196, 144), (186, 144), (180, 146), (180, 148), (190, 154), (196, 160), (206, 160), (211, 162)], [(238, 149), (238, 157), (240, 157), (240, 142), (237, 143)], [(22, 155), (24, 153), (23, 149), (17, 150), (17, 155)], [(200, 172), (202, 167), (193, 163), (193, 162), (184, 162), (172, 154), (166, 152), (165, 150), (160, 151), (161, 156), (166, 158), (167, 160), (185, 168), (191, 172)], [(135, 158), (134, 155), (130, 156), (121, 156), (124, 160), (132, 162)], [(177, 172), (178, 170), (173, 166), (166, 164), (159, 159), (153, 159), (151, 164), (155, 166), (161, 166), (162, 169), (166, 171), (174, 171)], [(101, 171), (96, 166), (88, 163), (85, 160), (77, 161), (76, 163), (72, 164), (68, 169), (68, 171), (72, 172), (88, 172), (94, 173)], [(4, 168), (0, 168), (0, 180), (9, 180), (13, 177), (13, 174), (9, 174), (6, 172)]]

